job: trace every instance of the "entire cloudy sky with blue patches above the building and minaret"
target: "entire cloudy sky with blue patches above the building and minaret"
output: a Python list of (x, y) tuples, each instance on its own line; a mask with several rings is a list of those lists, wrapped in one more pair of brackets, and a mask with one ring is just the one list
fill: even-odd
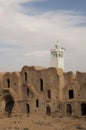
[(86, 72), (86, 0), (0, 0), (0, 72), (50, 67), (57, 41), (64, 71)]

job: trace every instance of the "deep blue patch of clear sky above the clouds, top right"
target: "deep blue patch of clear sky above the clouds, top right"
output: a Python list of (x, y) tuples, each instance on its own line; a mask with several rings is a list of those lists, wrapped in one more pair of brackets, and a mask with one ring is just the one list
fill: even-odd
[(45, 0), (36, 2), (26, 2), (25, 8), (35, 8), (44, 11), (53, 10), (73, 10), (86, 14), (86, 0)]

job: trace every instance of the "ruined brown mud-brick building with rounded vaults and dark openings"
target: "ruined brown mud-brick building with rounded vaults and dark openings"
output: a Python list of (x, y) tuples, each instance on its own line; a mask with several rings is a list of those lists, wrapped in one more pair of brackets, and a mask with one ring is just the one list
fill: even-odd
[(0, 116), (38, 112), (86, 116), (86, 73), (35, 66), (0, 73)]

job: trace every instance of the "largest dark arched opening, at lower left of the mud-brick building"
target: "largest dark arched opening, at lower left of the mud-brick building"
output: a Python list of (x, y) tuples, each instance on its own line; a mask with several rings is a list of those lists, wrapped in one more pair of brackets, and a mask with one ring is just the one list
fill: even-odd
[(11, 115), (14, 106), (14, 100), (11, 95), (6, 95), (4, 97), (4, 100), (5, 100), (5, 111), (7, 112), (8, 115)]

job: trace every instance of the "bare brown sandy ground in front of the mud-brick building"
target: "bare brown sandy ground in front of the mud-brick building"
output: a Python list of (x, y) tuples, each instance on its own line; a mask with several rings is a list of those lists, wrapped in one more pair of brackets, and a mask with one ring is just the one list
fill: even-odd
[(22, 115), (0, 119), (0, 130), (86, 130), (86, 118)]

